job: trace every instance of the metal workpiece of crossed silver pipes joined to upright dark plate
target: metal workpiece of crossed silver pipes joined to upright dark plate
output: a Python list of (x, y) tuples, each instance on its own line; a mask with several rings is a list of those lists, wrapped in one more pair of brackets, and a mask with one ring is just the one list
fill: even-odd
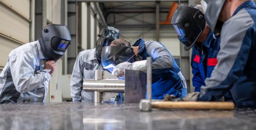
[[(139, 103), (145, 98), (145, 85), (146, 74), (142, 71), (126, 70), (125, 80), (121, 80), (109, 72), (96, 70), (95, 79), (83, 82), (83, 90), (94, 92), (94, 102), (111, 100), (118, 93), (124, 93), (125, 103)], [(109, 94), (102, 94), (104, 92)]]

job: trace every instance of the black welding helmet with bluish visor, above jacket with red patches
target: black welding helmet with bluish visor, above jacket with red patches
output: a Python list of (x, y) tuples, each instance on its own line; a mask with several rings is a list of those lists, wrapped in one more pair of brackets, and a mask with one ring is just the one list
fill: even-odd
[(179, 6), (174, 12), (172, 24), (186, 51), (193, 47), (206, 26), (203, 12), (186, 6)]

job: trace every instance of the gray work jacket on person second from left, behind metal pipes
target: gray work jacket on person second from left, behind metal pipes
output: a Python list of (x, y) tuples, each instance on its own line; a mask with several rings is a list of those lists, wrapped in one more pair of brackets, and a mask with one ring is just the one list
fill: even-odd
[(97, 69), (103, 67), (97, 60), (95, 48), (78, 54), (70, 82), (73, 101), (92, 101), (92, 92), (82, 90), (82, 83), (86, 79), (94, 79), (94, 72)]

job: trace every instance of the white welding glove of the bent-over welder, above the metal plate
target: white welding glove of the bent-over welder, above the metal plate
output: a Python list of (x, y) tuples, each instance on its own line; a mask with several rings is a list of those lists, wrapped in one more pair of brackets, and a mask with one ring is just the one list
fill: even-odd
[(139, 71), (146, 72), (147, 71), (146, 62), (147, 60), (137, 61), (134, 63), (129, 63), (129, 62), (120, 63), (116, 66), (112, 74), (115, 75), (116, 77), (124, 77), (126, 69), (139, 70)]

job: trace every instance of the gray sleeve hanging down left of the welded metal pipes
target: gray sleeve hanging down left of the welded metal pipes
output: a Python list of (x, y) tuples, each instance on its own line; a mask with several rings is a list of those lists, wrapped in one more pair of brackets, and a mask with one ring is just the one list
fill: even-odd
[(70, 90), (71, 97), (73, 101), (81, 101), (81, 91), (82, 91), (82, 83), (83, 83), (83, 58), (82, 54), (79, 53), (74, 64), (71, 81), (70, 81)]

